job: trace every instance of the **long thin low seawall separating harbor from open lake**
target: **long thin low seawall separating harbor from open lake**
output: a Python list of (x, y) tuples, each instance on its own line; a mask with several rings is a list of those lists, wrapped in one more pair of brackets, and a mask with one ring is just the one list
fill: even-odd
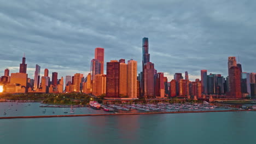
[(120, 115), (149, 115), (163, 113), (200, 113), (200, 112), (234, 112), (234, 111), (256, 111), (256, 110), (224, 110), (224, 111), (173, 111), (173, 112), (137, 112), (137, 113), (102, 113), (88, 115), (54, 115), (54, 116), (20, 116), (20, 117), (0, 117), (0, 119), (14, 118), (50, 118), (50, 117), (85, 117), (85, 116), (120, 116)]

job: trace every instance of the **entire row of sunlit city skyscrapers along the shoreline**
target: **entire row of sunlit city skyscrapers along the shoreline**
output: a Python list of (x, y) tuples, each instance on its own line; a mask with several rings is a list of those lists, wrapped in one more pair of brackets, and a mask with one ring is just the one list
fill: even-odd
[(36, 65), (34, 79), (26, 74), (27, 64), (25, 56), (22, 58), (19, 73), (11, 73), (5, 69), (1, 77), (0, 86), (4, 86), (7, 93), (62, 93), (83, 92), (92, 95), (105, 95), (106, 98), (206, 98), (209, 95), (217, 98), (245, 98), (256, 97), (256, 74), (242, 72), (241, 64), (236, 63), (235, 57), (228, 58), (228, 76), (226, 79), (220, 74), (209, 74), (201, 70), (201, 81), (189, 80), (185, 71), (175, 73), (173, 80), (168, 82), (164, 73), (157, 73), (154, 63), (150, 62), (148, 38), (142, 39), (142, 71), (137, 76), (137, 61), (125, 59), (107, 62), (107, 74), (104, 74), (104, 49), (97, 47), (95, 57), (91, 60), (90, 73), (66, 76), (65, 85), (63, 77), (57, 79), (57, 73), (44, 76), (40, 79), (40, 66)]

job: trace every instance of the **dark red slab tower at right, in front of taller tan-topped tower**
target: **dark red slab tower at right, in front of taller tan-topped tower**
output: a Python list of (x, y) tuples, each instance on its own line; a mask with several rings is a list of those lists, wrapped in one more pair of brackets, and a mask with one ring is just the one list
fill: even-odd
[(229, 69), (229, 81), (230, 81), (230, 93), (229, 96), (231, 98), (240, 99), (242, 97), (241, 94), (241, 73), (240, 69), (237, 66), (232, 66)]

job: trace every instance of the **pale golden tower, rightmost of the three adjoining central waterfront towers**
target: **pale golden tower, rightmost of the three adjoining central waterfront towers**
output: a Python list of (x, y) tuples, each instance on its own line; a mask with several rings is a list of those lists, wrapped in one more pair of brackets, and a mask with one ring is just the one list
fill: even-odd
[(132, 59), (127, 66), (127, 95), (129, 98), (137, 98), (137, 61)]

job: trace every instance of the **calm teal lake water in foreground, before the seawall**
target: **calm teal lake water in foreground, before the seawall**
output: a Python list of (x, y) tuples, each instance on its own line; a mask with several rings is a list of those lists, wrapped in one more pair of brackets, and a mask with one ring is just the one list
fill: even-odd
[(0, 143), (255, 143), (255, 121), (253, 111), (0, 119)]

